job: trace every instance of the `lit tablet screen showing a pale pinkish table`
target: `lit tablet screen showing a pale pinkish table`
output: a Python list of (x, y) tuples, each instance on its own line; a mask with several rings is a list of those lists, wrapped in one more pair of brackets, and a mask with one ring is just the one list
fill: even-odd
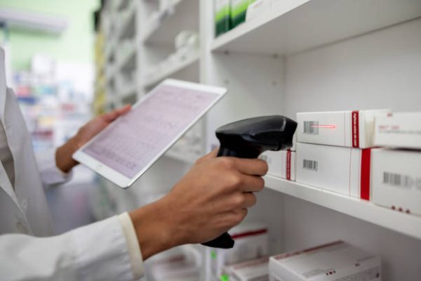
[(218, 98), (217, 93), (161, 84), (83, 152), (133, 178)]

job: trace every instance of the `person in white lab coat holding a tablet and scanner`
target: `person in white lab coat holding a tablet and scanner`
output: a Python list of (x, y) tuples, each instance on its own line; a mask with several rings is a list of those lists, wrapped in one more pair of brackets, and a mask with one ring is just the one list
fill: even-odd
[(163, 199), (53, 236), (43, 185), (68, 181), (73, 152), (128, 110), (88, 122), (39, 173), (0, 48), (0, 280), (138, 280), (150, 256), (213, 240), (243, 220), (267, 164), (211, 152)]

